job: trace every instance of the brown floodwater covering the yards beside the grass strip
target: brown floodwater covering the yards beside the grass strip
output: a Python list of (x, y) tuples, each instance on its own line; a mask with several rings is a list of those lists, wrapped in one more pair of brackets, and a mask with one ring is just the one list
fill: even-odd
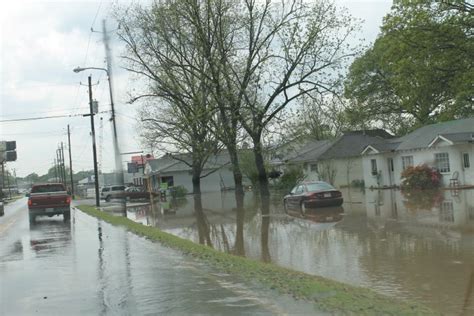
[[(474, 314), (474, 190), (343, 191), (342, 207), (269, 214), (246, 193), (203, 194), (128, 207), (144, 225), (253, 259), (416, 300), (444, 314)], [(198, 204), (202, 205), (198, 205)]]

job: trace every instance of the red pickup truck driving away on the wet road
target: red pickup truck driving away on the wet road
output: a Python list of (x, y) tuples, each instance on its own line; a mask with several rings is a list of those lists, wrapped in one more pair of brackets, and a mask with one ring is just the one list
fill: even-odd
[(30, 222), (36, 216), (63, 215), (64, 220), (71, 218), (71, 196), (62, 183), (35, 184), (28, 198)]

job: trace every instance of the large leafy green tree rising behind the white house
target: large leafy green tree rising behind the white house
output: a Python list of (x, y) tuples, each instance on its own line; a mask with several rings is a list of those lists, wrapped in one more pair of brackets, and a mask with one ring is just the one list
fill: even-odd
[(394, 1), (381, 34), (350, 67), (353, 121), (396, 133), (474, 114), (474, 20), (465, 1)]

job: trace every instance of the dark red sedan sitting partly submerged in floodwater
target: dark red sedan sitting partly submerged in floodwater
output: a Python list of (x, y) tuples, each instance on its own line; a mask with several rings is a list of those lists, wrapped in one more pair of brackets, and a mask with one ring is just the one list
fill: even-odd
[(324, 181), (302, 182), (283, 198), (287, 212), (290, 208), (297, 208), (302, 214), (306, 214), (308, 208), (340, 206), (342, 202), (341, 191)]

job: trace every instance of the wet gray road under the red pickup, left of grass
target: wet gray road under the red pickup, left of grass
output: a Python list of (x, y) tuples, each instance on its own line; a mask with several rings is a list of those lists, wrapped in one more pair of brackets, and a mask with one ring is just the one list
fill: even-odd
[(25, 204), (0, 217), (0, 315), (316, 313), (78, 210), (30, 226)]

